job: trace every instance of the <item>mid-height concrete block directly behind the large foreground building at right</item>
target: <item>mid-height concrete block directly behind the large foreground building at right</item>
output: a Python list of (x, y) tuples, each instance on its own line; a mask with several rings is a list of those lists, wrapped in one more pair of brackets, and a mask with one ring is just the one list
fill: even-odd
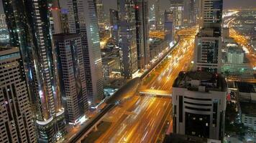
[(214, 29), (201, 29), (195, 39), (194, 70), (221, 72), (221, 34)]

